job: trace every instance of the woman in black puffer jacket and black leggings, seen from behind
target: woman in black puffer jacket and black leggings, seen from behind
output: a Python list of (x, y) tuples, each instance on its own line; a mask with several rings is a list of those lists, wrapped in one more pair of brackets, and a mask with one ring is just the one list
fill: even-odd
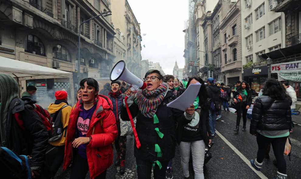
[(277, 179), (287, 179), (283, 151), (292, 129), (291, 104), (292, 99), (281, 82), (268, 79), (263, 87), (263, 95), (256, 98), (252, 110), (250, 134), (256, 136), (258, 151), (251, 165), (260, 171), (266, 148), (271, 143), (277, 160)]

